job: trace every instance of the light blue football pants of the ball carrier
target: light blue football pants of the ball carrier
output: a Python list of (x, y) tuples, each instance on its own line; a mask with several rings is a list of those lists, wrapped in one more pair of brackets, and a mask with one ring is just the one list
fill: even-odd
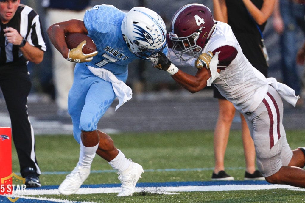
[[(116, 75), (126, 82), (127, 72)], [(101, 117), (110, 107), (116, 95), (110, 82), (93, 75), (84, 64), (74, 69), (74, 81), (68, 96), (68, 113), (73, 124), (73, 135), (78, 143), (81, 131), (94, 131)]]

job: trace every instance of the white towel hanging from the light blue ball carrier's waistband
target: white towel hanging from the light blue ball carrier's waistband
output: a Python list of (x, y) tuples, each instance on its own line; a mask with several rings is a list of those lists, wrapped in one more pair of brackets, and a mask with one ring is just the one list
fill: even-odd
[(107, 82), (111, 82), (113, 91), (119, 99), (119, 104), (116, 106), (115, 110), (117, 110), (125, 102), (131, 99), (131, 88), (128, 87), (122, 80), (117, 79), (117, 77), (113, 75), (112, 72), (104, 68), (94, 68), (92, 66), (88, 66), (88, 68), (94, 75)]

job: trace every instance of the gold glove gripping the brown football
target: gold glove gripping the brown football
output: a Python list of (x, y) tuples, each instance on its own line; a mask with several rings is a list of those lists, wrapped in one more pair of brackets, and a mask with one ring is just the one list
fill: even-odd
[(83, 62), (89, 62), (92, 60), (92, 58), (98, 54), (97, 51), (94, 51), (90, 54), (84, 54), (83, 53), (83, 47), (86, 45), (87, 41), (82, 41), (77, 47), (70, 49), (68, 53), (68, 61), (76, 62), (76, 63), (83, 63)]

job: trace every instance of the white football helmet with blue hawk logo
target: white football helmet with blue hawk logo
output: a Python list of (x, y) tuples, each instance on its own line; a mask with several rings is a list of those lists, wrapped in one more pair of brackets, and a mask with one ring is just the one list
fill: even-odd
[(167, 46), (165, 23), (151, 9), (132, 8), (124, 17), (121, 30), (129, 49), (139, 58), (146, 59)]

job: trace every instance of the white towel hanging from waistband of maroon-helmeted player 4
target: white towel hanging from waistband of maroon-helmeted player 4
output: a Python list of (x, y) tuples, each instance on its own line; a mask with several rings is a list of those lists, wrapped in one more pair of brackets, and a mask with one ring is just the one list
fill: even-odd
[(292, 106), (296, 106), (296, 101), (300, 99), (300, 96), (296, 96), (294, 90), (289, 86), (276, 81), (275, 78), (267, 78), (268, 84), (274, 87), (281, 97), (290, 103)]

